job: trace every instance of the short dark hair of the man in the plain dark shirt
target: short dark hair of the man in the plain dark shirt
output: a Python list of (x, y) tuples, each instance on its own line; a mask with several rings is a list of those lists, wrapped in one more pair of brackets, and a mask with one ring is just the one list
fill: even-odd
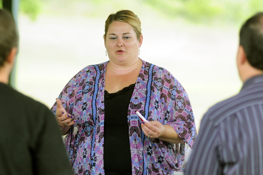
[(0, 67), (11, 49), (18, 45), (16, 24), (10, 12), (0, 9)]

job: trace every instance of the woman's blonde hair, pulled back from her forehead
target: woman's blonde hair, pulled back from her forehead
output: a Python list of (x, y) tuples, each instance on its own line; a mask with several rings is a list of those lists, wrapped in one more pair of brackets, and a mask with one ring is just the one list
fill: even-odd
[(141, 21), (138, 18), (138, 16), (135, 15), (132, 11), (120, 10), (117, 13), (110, 14), (107, 20), (105, 21), (105, 36), (108, 32), (109, 25), (113, 21), (120, 21), (130, 24), (137, 35), (137, 39), (139, 40), (141, 35)]

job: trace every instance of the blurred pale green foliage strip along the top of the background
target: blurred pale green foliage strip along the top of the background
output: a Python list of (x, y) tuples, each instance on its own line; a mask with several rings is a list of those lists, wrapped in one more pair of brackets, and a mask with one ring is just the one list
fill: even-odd
[[(2, 2), (2, 0), (0, 0)], [(240, 24), (263, 11), (263, 0), (20, 0), (20, 12), (35, 20), (40, 12), (101, 17), (124, 7), (150, 7), (167, 18), (183, 18), (195, 23)], [(2, 3), (0, 3), (0, 7)]]

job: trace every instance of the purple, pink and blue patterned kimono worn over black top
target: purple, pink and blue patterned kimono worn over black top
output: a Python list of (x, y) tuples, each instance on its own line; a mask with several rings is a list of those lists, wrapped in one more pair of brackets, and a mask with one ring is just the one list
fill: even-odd
[[(76, 123), (65, 137), (75, 174), (104, 174), (104, 77), (108, 62), (82, 69), (59, 95)], [(51, 108), (56, 110), (56, 103)], [(139, 111), (147, 120), (172, 126), (184, 143), (147, 138), (139, 124)], [(127, 111), (132, 173), (173, 174), (182, 171), (185, 143), (193, 146), (196, 128), (183, 86), (167, 70), (143, 61)], [(118, 152), (116, 152), (118, 154)]]

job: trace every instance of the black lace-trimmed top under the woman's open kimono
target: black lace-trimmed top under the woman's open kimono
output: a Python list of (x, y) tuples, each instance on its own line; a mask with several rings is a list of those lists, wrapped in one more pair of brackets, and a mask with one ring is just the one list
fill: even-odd
[(109, 94), (104, 91), (105, 175), (132, 174), (128, 107), (135, 84)]

